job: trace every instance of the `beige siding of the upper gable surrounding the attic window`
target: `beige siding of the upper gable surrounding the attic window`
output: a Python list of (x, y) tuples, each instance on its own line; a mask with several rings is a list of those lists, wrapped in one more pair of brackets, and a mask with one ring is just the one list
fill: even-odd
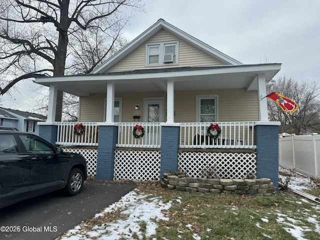
[(147, 68), (167, 68), (182, 66), (214, 66), (224, 65), (214, 57), (200, 51), (191, 44), (179, 39), (167, 31), (160, 30), (157, 34), (148, 39), (145, 43), (155, 43), (163, 41), (179, 40), (178, 64), (165, 64), (160, 66), (145, 66), (145, 44), (141, 44), (137, 49), (116, 63), (107, 72), (130, 71)]

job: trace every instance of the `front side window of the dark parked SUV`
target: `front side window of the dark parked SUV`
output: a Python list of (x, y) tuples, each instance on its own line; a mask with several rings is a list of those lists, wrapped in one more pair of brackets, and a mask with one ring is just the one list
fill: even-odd
[(39, 138), (30, 135), (19, 135), (27, 152), (54, 153), (53, 148)]

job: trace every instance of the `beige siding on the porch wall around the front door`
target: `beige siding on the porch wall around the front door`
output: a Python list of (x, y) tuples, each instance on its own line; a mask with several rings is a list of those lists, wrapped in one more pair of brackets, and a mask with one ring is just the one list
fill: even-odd
[[(257, 121), (259, 119), (257, 91), (234, 88), (175, 91), (174, 121), (196, 122), (196, 95), (208, 94), (219, 96), (218, 121)], [(143, 121), (143, 99), (145, 97), (163, 97), (164, 112), (166, 112), (166, 94), (161, 91), (116, 93), (115, 97), (122, 98), (122, 122), (133, 122), (133, 115), (139, 115), (139, 121)], [(104, 94), (81, 97), (79, 121), (103, 121), (104, 99)], [(139, 110), (134, 109), (136, 104), (140, 106)]]

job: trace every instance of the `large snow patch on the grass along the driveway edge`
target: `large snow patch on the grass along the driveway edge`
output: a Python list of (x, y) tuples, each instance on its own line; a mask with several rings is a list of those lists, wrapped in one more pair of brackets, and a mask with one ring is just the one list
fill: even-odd
[[(80, 224), (69, 230), (66, 236), (61, 239), (90, 240), (98, 237), (100, 240), (116, 240), (123, 238), (133, 239), (133, 235), (142, 239), (142, 225), (145, 237), (155, 234), (156, 222), (160, 219), (168, 220), (162, 210), (169, 209), (172, 205), (172, 200), (163, 203), (161, 197), (148, 198), (149, 195), (137, 193), (136, 191), (137, 189), (130, 191), (119, 201), (95, 215), (95, 217), (98, 217), (104, 213), (116, 212), (120, 209), (121, 214), (127, 215), (125, 219), (106, 222), (99, 226), (95, 225), (91, 231), (82, 230), (81, 226), (85, 226), (85, 224)], [(176, 199), (176, 202), (179, 202), (179, 199)]]

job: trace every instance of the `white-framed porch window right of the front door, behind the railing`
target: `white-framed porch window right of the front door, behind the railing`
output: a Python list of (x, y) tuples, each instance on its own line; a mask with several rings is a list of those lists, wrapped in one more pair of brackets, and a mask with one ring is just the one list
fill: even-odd
[(218, 120), (217, 95), (196, 96), (197, 122), (215, 122)]

